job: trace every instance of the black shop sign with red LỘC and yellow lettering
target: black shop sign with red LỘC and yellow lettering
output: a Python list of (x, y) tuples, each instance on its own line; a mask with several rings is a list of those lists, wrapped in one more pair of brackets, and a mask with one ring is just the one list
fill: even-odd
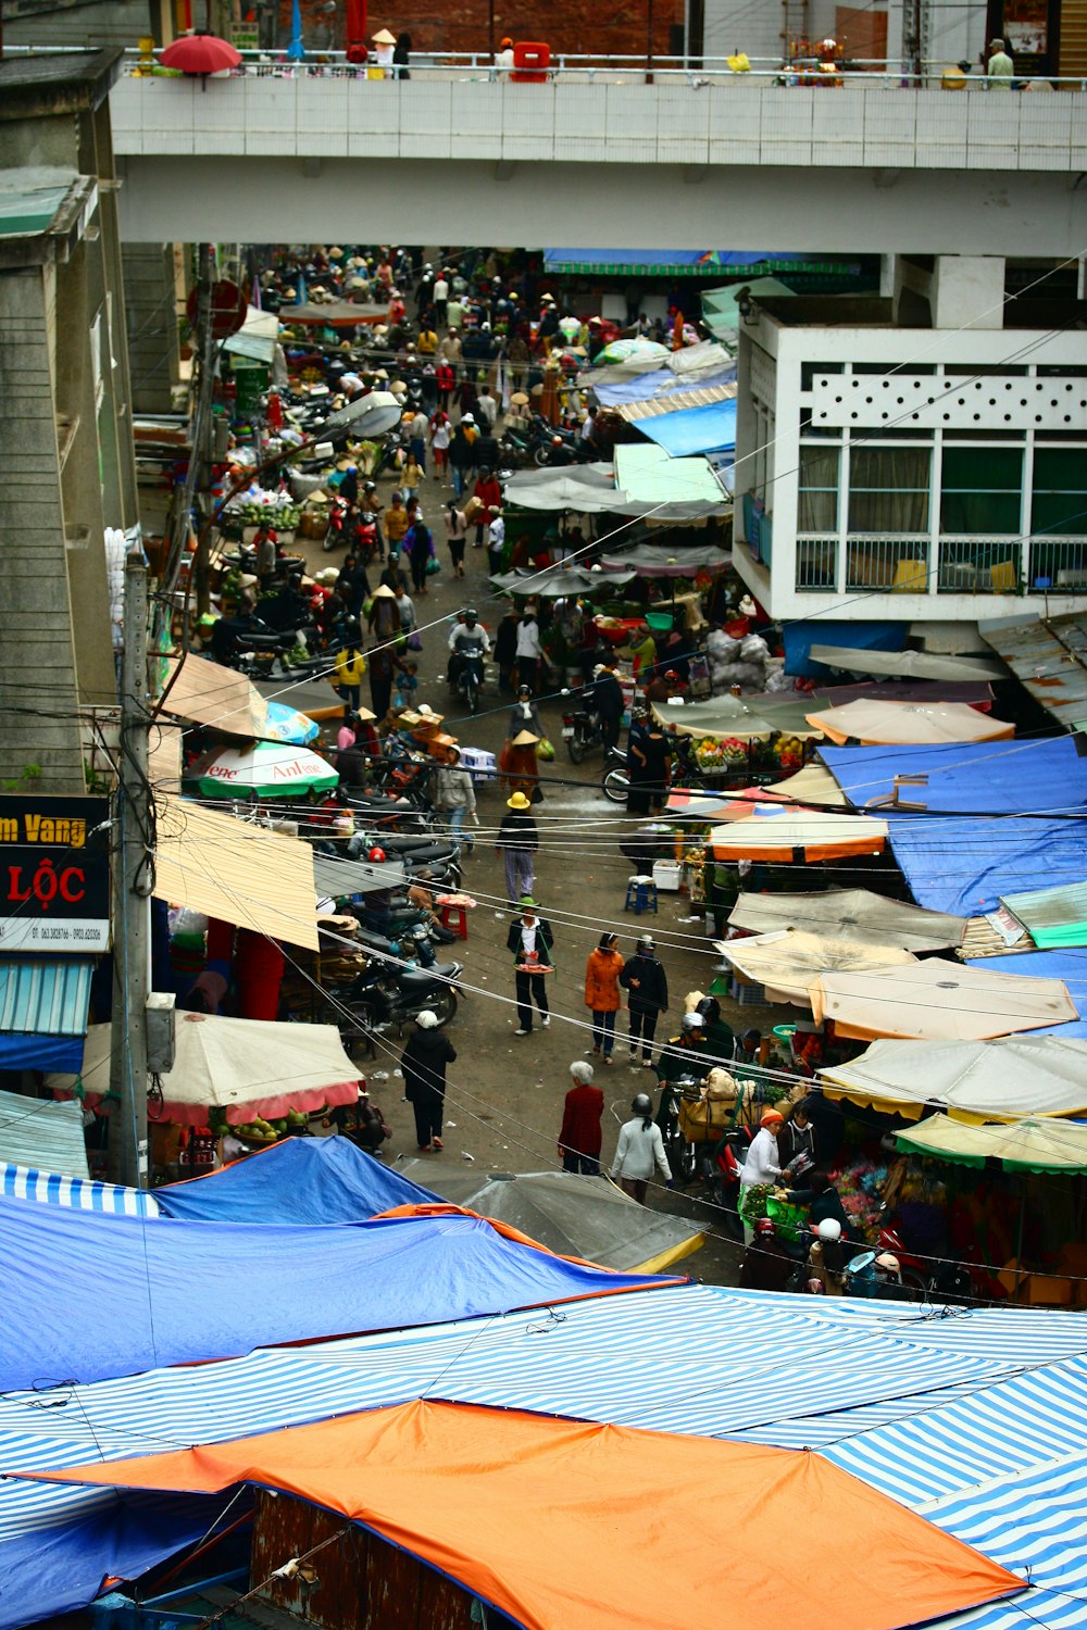
[(0, 952), (109, 949), (109, 799), (0, 797)]

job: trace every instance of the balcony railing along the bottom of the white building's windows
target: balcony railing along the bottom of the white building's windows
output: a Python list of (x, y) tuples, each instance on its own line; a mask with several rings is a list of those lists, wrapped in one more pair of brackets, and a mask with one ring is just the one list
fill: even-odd
[[(844, 582), (838, 582), (844, 556)], [(1087, 533), (1074, 538), (940, 538), (852, 533), (797, 538), (799, 593), (1071, 595), (1087, 592)]]

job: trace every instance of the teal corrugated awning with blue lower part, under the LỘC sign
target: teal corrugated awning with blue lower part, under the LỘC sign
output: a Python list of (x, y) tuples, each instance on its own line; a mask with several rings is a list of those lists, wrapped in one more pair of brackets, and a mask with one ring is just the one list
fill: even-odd
[(0, 1069), (80, 1068), (93, 971), (90, 957), (0, 957)]

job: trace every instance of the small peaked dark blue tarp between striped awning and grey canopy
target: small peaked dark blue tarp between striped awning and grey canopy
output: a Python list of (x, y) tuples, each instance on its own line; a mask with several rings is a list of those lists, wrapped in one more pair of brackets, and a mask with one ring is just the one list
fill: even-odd
[(155, 1190), (168, 1218), (207, 1222), (365, 1222), (438, 1196), (357, 1149), (349, 1138), (287, 1138), (220, 1172)]

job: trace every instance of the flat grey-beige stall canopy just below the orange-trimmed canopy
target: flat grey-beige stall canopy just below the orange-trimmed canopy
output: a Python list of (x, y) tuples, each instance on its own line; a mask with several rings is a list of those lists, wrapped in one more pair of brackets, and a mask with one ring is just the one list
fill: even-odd
[(869, 945), (896, 945), (900, 950), (945, 950), (960, 945), (966, 929), (965, 918), (922, 911), (867, 888), (828, 888), (818, 895), (740, 895), (728, 924), (750, 934), (810, 929)]

